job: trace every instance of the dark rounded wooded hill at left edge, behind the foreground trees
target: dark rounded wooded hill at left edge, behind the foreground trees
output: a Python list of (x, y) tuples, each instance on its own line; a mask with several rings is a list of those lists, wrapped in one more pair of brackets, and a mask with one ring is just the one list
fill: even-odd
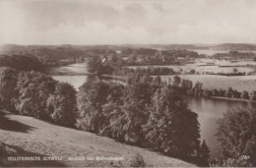
[(20, 71), (43, 71), (39, 60), (32, 55), (0, 55), (0, 67), (11, 67)]

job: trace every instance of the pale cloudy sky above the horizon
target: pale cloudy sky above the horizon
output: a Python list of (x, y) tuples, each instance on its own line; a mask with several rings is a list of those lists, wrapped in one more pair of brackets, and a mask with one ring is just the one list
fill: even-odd
[(0, 44), (256, 43), (255, 0), (0, 0)]

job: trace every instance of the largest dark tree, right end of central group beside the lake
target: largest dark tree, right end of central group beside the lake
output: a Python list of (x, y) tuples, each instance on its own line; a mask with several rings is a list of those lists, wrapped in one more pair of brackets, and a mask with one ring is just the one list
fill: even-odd
[(175, 87), (156, 91), (144, 135), (148, 147), (175, 156), (190, 157), (199, 148), (197, 114), (187, 109)]

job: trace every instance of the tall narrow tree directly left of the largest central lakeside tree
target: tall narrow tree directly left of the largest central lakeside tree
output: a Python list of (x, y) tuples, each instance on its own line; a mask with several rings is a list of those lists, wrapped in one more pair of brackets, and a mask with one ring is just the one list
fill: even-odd
[(151, 85), (147, 83), (133, 84), (127, 87), (127, 95), (122, 111), (126, 117), (123, 132), (125, 141), (142, 142), (142, 127), (149, 118), (148, 105), (151, 103)]

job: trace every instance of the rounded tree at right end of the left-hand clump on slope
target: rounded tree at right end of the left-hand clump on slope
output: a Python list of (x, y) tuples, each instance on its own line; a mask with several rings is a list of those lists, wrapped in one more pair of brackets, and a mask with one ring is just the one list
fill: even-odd
[(74, 127), (77, 118), (76, 90), (71, 84), (58, 83), (47, 99), (51, 119), (62, 126)]

